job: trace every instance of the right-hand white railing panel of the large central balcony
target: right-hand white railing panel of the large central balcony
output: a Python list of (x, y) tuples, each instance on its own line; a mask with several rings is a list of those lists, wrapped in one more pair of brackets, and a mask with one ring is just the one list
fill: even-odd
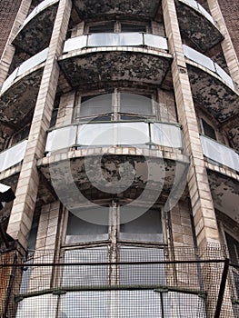
[(151, 138), (154, 144), (172, 148), (182, 148), (182, 134), (180, 127), (174, 124), (151, 124)]

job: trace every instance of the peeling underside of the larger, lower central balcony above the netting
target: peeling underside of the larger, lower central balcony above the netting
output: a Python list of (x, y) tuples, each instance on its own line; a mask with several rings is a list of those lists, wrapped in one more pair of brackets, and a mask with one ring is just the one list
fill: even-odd
[[(49, 184), (56, 185), (56, 194), (58, 191), (61, 193), (64, 191), (68, 203), (74, 204), (80, 201), (79, 194), (73, 194), (71, 191), (72, 184), (67, 184), (69, 183), (69, 171), (79, 192), (89, 201), (135, 200), (146, 191), (147, 200), (150, 201), (151, 198), (154, 200), (154, 196), (157, 194), (158, 200), (164, 203), (172, 191), (177, 164), (176, 154), (171, 155), (174, 156), (173, 160), (156, 156), (144, 157), (144, 155), (105, 154), (99, 157), (95, 154), (86, 158), (91, 161), (90, 167), (92, 168), (85, 171), (85, 157), (77, 156), (77, 152), (75, 152), (74, 158), (66, 161), (61, 160), (59, 154), (46, 157), (38, 166)], [(66, 156), (66, 154), (62, 155)], [(101, 158), (101, 167), (98, 170), (95, 167), (99, 163), (99, 158)], [(185, 156), (182, 158), (185, 160), (183, 164), (187, 164), (187, 158)], [(45, 164), (49, 161), (50, 167), (49, 164)], [(149, 171), (154, 175), (150, 175)], [(159, 175), (160, 177), (158, 177)], [(94, 179), (94, 184), (92, 179), (89, 179), (90, 177)], [(129, 180), (130, 184), (128, 184)], [(101, 190), (103, 181), (106, 181), (106, 184), (115, 184), (117, 186), (116, 194)]]

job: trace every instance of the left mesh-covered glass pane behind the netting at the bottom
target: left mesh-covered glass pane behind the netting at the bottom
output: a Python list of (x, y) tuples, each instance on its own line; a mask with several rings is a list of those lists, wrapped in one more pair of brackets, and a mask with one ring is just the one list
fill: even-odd
[[(65, 263), (106, 263), (107, 247), (65, 251)], [(108, 282), (106, 265), (64, 266), (63, 286), (99, 286)]]

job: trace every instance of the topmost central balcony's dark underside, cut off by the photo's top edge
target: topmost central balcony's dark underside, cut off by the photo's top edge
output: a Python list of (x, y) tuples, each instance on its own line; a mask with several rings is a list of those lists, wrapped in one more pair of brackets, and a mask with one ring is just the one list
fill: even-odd
[(74, 0), (75, 9), (82, 20), (101, 17), (105, 15), (136, 18), (150, 18), (158, 14), (161, 9), (161, 1), (141, 1), (141, 0)]

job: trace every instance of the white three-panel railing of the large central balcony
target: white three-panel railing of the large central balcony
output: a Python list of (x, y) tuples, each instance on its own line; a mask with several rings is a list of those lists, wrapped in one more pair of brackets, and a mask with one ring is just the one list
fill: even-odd
[(75, 124), (49, 132), (45, 151), (54, 152), (73, 146), (163, 145), (182, 148), (181, 129), (176, 124), (144, 122)]

